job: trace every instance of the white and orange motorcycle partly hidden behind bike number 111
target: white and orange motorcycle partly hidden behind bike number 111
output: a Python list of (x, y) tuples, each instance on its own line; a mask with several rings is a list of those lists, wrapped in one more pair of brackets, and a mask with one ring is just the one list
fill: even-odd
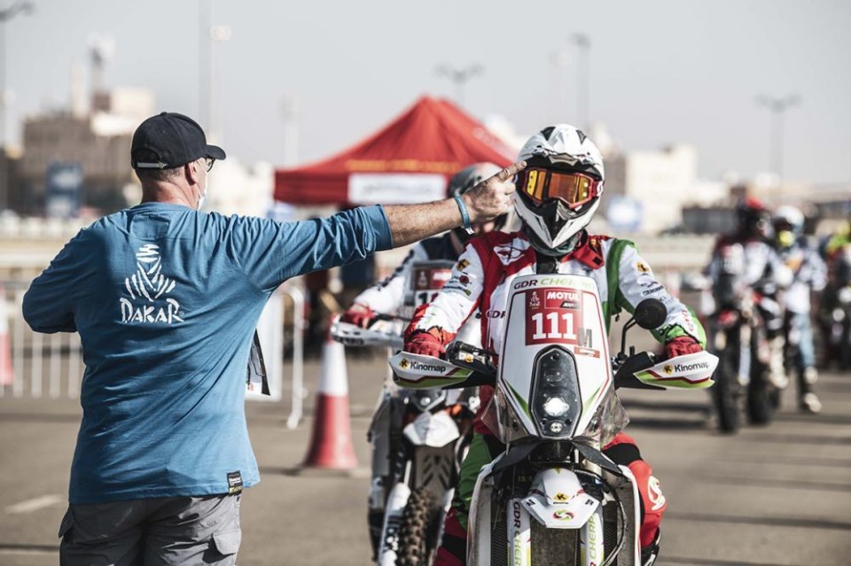
[[(452, 265), (442, 260), (415, 263), (406, 305), (432, 300), (449, 279)], [(369, 328), (362, 329), (337, 321), (332, 324), (332, 337), (344, 345), (386, 345), (398, 351), (406, 322), (401, 317), (378, 315)], [(479, 333), (479, 321), (471, 317), (459, 338), (474, 341)], [(371, 435), (376, 426), (390, 430), (389, 474), (379, 480), (384, 482), (384, 490), (373, 490), (385, 498), (384, 516), (371, 521), (373, 550), (380, 566), (423, 566), (433, 561), (478, 408), (477, 387), (405, 389), (390, 381), (384, 388), (370, 427)]]

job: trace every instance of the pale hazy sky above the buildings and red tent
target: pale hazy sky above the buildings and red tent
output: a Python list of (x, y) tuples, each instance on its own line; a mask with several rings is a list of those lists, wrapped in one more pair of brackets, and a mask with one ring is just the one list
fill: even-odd
[[(113, 35), (108, 86), (154, 89), (158, 110), (199, 116), (200, 2), (35, 0), (6, 22), (6, 84), (20, 117), (66, 104), (70, 67), (92, 33)], [(12, 0), (0, 0), (0, 6)], [(223, 146), (280, 164), (282, 101), (301, 100), (302, 162), (371, 134), (423, 94), (453, 97), (440, 64), (478, 63), (465, 108), (521, 133), (578, 120), (574, 33), (588, 35), (590, 108), (628, 150), (699, 149), (700, 173), (769, 168), (760, 94), (797, 94), (786, 112), (785, 175), (851, 182), (851, 2), (642, 0), (504, 2), (215, 0)], [(559, 85), (565, 84), (564, 95)]]

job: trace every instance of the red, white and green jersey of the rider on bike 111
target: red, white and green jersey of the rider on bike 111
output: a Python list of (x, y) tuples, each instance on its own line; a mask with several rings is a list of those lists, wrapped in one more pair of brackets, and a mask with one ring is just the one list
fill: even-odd
[[(555, 267), (558, 274), (586, 275), (597, 282), (607, 327), (613, 314), (621, 309), (631, 313), (643, 299), (652, 297), (668, 306), (668, 318), (653, 333), (658, 340), (688, 335), (705, 344), (697, 316), (657, 281), (634, 244), (608, 236), (582, 237), (574, 252)], [(454, 335), (478, 307), (482, 344), (499, 352), (511, 282), (518, 275), (535, 274), (537, 259), (535, 249), (519, 232), (492, 232), (473, 238), (453, 267), (449, 282), (431, 303), (418, 309), (407, 334), (438, 327)]]

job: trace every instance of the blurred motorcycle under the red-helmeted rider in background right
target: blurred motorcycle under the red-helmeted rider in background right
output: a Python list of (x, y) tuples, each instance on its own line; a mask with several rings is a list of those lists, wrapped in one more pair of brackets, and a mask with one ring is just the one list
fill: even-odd
[(769, 342), (761, 310), (780, 306), (741, 283), (745, 258), (740, 245), (725, 246), (719, 253), (722, 267), (712, 287), (714, 312), (707, 323), (707, 346), (719, 357), (712, 388), (718, 428), (735, 433), (743, 414), (753, 424), (766, 424), (779, 403), (780, 392), (768, 376)]

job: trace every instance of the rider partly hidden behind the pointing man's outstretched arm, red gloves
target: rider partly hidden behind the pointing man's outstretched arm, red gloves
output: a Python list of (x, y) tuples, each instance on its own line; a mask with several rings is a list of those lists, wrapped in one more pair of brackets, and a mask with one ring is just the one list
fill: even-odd
[[(467, 190), (498, 173), (499, 170), (500, 167), (489, 162), (475, 163), (465, 167), (449, 180), (448, 197), (460, 197)], [(473, 234), (468, 234), (463, 228), (457, 228), (450, 230), (443, 236), (436, 236), (419, 242), (411, 248), (408, 256), (399, 267), (396, 267), (393, 274), (355, 297), (352, 305), (342, 314), (340, 320), (365, 329), (369, 328), (377, 314), (400, 314), (405, 303), (405, 291), (409, 289), (410, 285), (411, 267), (415, 263), (425, 260), (450, 260), (455, 262), (473, 235), (502, 229), (507, 217), (508, 214), (503, 214), (493, 221), (473, 222), (471, 225)], [(379, 406), (372, 417), (369, 431), (372, 447), (372, 481), (367, 518), (374, 555), (378, 553), (385, 513), (386, 489), (388, 488), (386, 483), (390, 473), (389, 437), (391, 423), (389, 399), (392, 395), (391, 387), (385, 384), (379, 399)]]

